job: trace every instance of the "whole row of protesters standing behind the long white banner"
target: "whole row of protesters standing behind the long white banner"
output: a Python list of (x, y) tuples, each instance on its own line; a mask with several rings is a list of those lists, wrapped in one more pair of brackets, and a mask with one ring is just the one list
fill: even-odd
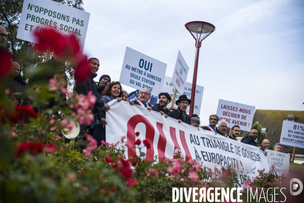
[[(3, 49), (2, 47), (6, 39), (7, 31), (3, 26), (0, 25), (0, 49)], [(74, 91), (78, 94), (83, 95), (87, 95), (91, 91), (96, 97), (96, 103), (94, 105), (94, 108), (91, 109), (92, 114), (94, 115), (94, 120), (90, 125), (82, 124), (80, 127), (80, 134), (92, 134), (99, 146), (101, 145), (101, 141), (106, 140), (106, 111), (110, 110), (110, 106), (108, 105), (109, 101), (113, 99), (117, 99), (118, 101), (129, 100), (128, 93), (126, 91), (123, 91), (121, 83), (119, 81), (111, 81), (109, 75), (102, 75), (99, 78), (98, 83), (94, 81), (94, 78), (96, 78), (100, 66), (100, 62), (97, 58), (90, 58), (87, 62), (90, 67), (89, 77), (82, 82), (76, 81), (74, 83)], [(64, 60), (55, 53), (53, 54), (52, 58), (47, 62), (43, 62), (35, 66), (34, 74), (32, 74), (31, 77), (28, 79), (27, 84), (21, 80), (20, 65), (16, 61), (13, 61), (10, 76), (6, 79), (6, 88), (10, 91), (9, 99), (17, 100), (19, 105), (22, 105), (24, 102), (26, 102), (24, 101), (26, 100), (26, 98), (24, 97), (24, 91), (26, 91), (27, 88), (48, 83), (49, 80), (52, 79), (56, 74), (62, 75), (63, 80), (67, 81)], [(67, 83), (65, 84), (67, 85)], [(148, 101), (150, 98), (151, 91), (146, 88), (143, 88), (139, 91), (138, 99), (135, 101), (129, 101), (129, 103), (130, 105), (138, 105), (142, 108), (146, 108), (148, 111), (152, 110), (160, 112), (160, 114), (164, 115), (166, 118), (174, 118), (177, 120), (178, 123), (186, 123), (188, 125), (198, 128), (198, 130), (203, 129), (208, 131), (214, 131), (215, 134), (219, 134), (220, 136), (223, 136), (226, 139), (232, 139), (237, 141), (237, 138), (240, 135), (241, 128), (238, 125), (233, 126), (230, 130), (230, 133), (227, 134), (227, 123), (225, 121), (219, 121), (218, 116), (215, 114), (210, 115), (209, 125), (201, 126), (200, 118), (198, 115), (193, 114), (189, 116), (186, 113), (187, 107), (192, 103), (192, 101), (188, 99), (186, 95), (180, 95), (179, 98), (175, 101), (175, 104), (178, 106), (177, 109), (171, 110), (167, 108), (168, 104), (172, 101), (172, 98), (169, 93), (159, 93), (159, 103), (154, 106), (151, 106), (149, 104)], [(62, 99), (65, 100), (66, 95), (63, 94)], [(55, 103), (55, 99), (52, 98), (47, 106), (42, 105), (40, 106), (40, 109), (47, 109), (49, 107), (54, 106)], [(251, 129), (249, 134), (242, 138), (241, 142), (244, 144), (258, 147), (256, 143), (257, 137), (258, 131), (256, 129)], [(269, 146), (269, 140), (265, 139), (262, 141), (262, 144), (259, 148), (264, 151), (265, 149), (268, 149)], [(282, 145), (279, 143), (276, 144), (274, 146), (274, 150), (281, 152)], [(292, 153), (289, 152), (289, 154), (291, 154), (290, 156), (292, 157)]]

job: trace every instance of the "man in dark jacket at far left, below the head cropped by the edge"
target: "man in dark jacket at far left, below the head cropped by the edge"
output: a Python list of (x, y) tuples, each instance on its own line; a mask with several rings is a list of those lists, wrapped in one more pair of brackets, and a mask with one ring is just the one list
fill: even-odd
[(22, 81), (20, 75), (20, 65), (12, 62), (10, 77), (5, 81), (7, 89), (10, 91), (11, 99), (19, 101), (19, 105), (23, 102), (23, 91), (26, 83)]

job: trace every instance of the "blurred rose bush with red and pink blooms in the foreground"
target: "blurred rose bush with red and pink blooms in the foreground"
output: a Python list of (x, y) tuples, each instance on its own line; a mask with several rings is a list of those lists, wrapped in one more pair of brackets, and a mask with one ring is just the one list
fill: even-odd
[[(63, 39), (48, 29), (37, 37), (39, 49), (52, 45), (56, 54), (76, 64), (77, 80), (87, 77), (86, 56), (79, 53), (73, 37)], [(7, 58), (4, 61), (9, 64)], [(140, 140), (139, 132), (135, 132), (137, 140), (128, 144), (122, 137), (119, 143), (102, 141), (97, 147), (90, 135), (86, 141), (67, 142), (60, 132), (73, 125), (62, 120), (58, 111), (90, 124), (96, 101), (92, 92), (86, 96), (68, 92), (67, 83), (63, 75), (54, 75), (47, 84), (27, 90), (31, 102), (24, 106), (0, 97), (0, 202), (171, 202), (172, 187), (239, 186), (232, 169), (222, 169), (222, 176), (214, 177), (200, 160), (186, 162), (179, 149), (173, 159), (145, 160), (143, 149), (151, 150), (151, 143)], [(0, 88), (0, 95), (5, 92)], [(67, 102), (62, 95), (67, 95)], [(55, 105), (36, 113), (50, 98)], [(137, 155), (126, 158), (119, 147), (123, 145), (136, 149)], [(279, 184), (276, 181), (273, 172), (262, 171), (249, 185), (274, 187)]]

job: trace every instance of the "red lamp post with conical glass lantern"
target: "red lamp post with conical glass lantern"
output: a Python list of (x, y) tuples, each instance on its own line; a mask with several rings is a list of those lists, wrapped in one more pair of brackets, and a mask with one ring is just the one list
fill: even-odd
[(194, 73), (191, 89), (191, 105), (189, 115), (191, 116), (194, 112), (194, 100), (196, 91), (196, 81), (198, 75), (198, 64), (199, 64), (199, 54), (202, 41), (205, 40), (212, 32), (215, 31), (215, 26), (211, 23), (204, 21), (192, 21), (185, 24), (186, 29), (191, 33), (192, 37), (195, 39), (196, 55), (194, 62)]

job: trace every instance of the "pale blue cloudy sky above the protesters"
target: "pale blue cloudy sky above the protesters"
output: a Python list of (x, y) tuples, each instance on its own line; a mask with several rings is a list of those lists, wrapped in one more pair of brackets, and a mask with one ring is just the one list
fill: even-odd
[[(126, 47), (167, 64), (172, 77), (178, 50), (192, 83), (195, 40), (184, 24), (212, 23), (202, 42), (197, 85), (204, 86), (202, 125), (219, 99), (255, 109), (304, 111), (304, 1), (83, 0), (90, 20), (84, 53), (100, 60), (103, 74), (118, 81)], [(127, 92), (134, 88), (123, 85)]]

